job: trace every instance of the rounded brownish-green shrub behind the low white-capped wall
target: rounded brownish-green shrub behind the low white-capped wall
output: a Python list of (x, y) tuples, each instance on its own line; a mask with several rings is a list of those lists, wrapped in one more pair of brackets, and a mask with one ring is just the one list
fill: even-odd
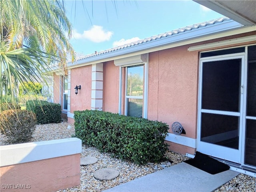
[(9, 143), (24, 143), (32, 138), (36, 115), (28, 110), (6, 110), (0, 114), (0, 131)]

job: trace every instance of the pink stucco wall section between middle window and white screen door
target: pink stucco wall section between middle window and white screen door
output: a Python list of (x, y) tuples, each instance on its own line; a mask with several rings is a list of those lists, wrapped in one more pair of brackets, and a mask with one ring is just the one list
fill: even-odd
[(186, 137), (196, 138), (198, 53), (188, 46), (149, 54), (148, 119), (180, 122)]

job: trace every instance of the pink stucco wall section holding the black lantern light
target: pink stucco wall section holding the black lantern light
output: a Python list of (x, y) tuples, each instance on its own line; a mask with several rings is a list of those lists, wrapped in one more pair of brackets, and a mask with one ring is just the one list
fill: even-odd
[[(74, 87), (81, 85), (75, 94)], [(70, 113), (76, 110), (91, 109), (92, 66), (71, 69), (70, 72)]]

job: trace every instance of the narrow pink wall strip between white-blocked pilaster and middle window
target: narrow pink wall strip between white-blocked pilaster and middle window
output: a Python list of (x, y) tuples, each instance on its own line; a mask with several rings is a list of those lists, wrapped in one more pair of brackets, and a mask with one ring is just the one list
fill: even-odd
[(114, 62), (103, 65), (103, 110), (118, 113), (119, 67)]

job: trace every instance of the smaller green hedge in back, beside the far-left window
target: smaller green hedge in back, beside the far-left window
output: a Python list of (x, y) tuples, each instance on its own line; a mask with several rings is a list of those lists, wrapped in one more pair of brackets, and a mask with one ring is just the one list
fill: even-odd
[(42, 100), (29, 100), (26, 102), (26, 108), (36, 114), (38, 124), (61, 122), (60, 104)]

